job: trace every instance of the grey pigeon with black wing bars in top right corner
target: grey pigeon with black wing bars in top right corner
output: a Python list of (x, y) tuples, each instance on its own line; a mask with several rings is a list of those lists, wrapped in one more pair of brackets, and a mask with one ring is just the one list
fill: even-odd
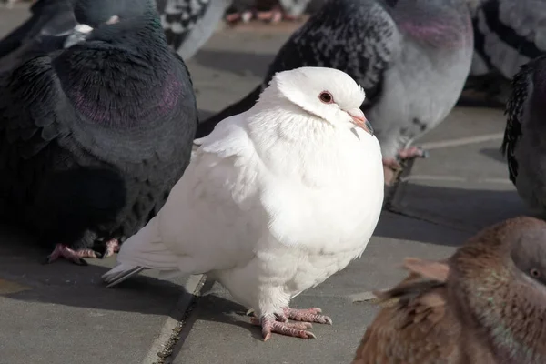
[(506, 103), (520, 66), (546, 52), (546, 2), (481, 0), (472, 16), (474, 56), (467, 89)]

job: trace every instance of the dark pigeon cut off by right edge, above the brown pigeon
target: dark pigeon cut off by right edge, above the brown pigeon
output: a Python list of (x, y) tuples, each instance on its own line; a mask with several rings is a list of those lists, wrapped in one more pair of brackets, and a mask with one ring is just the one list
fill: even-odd
[(546, 56), (521, 66), (512, 80), (502, 152), (509, 177), (531, 209), (546, 214)]

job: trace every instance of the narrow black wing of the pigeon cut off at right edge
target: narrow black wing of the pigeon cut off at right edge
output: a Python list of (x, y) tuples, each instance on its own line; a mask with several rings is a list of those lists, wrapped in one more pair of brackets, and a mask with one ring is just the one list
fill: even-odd
[[(541, 56), (536, 61), (544, 58), (546, 56)], [(511, 96), (506, 104), (505, 115), (507, 119), (501, 151), (508, 161), (509, 177), (513, 183), (516, 183), (516, 177), (518, 177), (518, 161), (515, 157), (515, 148), (521, 137), (521, 119), (532, 86), (533, 64), (534, 62), (531, 62), (521, 66), (520, 72), (513, 77)]]

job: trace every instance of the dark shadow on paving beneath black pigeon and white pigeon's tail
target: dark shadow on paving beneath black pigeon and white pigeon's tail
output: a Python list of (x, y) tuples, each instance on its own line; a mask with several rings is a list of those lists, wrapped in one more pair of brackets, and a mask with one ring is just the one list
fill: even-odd
[[(101, 275), (114, 266), (115, 257), (86, 259), (86, 267), (65, 260), (43, 264), (48, 254), (33, 239), (13, 229), (0, 227), (0, 278), (29, 288), (0, 295), (27, 302), (79, 308), (169, 315), (180, 299), (191, 296), (181, 285), (139, 275), (116, 288), (105, 288)], [(101, 266), (99, 266), (99, 264)]]

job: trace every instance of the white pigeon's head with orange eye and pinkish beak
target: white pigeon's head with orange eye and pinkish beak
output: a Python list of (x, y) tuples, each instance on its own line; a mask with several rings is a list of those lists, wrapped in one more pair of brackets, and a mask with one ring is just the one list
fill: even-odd
[(373, 128), (360, 110), (364, 89), (345, 72), (325, 67), (278, 72), (260, 101), (271, 94), (331, 126), (357, 126), (373, 136)]

